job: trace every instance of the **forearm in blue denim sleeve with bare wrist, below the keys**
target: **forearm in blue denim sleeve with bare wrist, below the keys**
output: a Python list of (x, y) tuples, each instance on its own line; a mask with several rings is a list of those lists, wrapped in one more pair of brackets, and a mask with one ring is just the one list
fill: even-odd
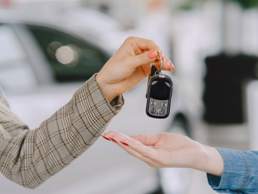
[(207, 172), (209, 185), (219, 193), (258, 193), (258, 151), (192, 144), (194, 168)]

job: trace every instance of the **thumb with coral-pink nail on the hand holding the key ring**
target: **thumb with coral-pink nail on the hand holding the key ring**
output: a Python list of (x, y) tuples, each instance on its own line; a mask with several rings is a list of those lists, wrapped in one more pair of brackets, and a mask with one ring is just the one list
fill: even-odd
[(149, 64), (152, 61), (155, 61), (157, 59), (157, 57), (158, 57), (157, 51), (150, 50), (148, 52), (132, 56), (132, 58), (133, 58), (132, 65), (134, 68), (136, 68), (141, 65)]

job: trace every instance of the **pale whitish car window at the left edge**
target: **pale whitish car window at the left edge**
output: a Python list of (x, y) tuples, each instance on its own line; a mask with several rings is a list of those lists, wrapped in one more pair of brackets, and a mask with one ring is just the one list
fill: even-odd
[(11, 26), (0, 24), (0, 85), (3, 89), (27, 89), (36, 85), (30, 63)]

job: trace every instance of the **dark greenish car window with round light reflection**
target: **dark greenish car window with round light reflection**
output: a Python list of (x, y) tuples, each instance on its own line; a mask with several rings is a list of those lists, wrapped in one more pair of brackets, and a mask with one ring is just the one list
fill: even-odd
[(27, 26), (35, 36), (58, 82), (85, 81), (109, 59), (104, 52), (67, 33), (42, 26)]

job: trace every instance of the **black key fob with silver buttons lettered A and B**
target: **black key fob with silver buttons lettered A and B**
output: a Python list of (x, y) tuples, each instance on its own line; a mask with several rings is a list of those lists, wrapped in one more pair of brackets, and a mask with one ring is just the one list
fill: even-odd
[(170, 112), (173, 82), (167, 75), (151, 77), (147, 92), (146, 114), (153, 118), (165, 119)]

